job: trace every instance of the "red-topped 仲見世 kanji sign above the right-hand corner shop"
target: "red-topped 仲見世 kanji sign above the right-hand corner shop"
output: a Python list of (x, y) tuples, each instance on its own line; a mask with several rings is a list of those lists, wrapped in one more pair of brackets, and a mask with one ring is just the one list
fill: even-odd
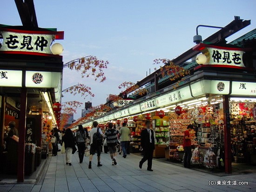
[(203, 43), (193, 47), (193, 49), (201, 51), (204, 55), (206, 55), (207, 62), (204, 65), (245, 67), (243, 63), (243, 53), (245, 49), (206, 45)]

